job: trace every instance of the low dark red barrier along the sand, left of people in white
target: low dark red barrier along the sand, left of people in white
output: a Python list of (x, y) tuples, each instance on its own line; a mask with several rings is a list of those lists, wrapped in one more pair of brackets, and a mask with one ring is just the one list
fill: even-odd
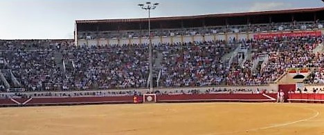
[[(158, 95), (157, 102), (188, 102), (188, 101), (252, 101), (264, 102), (273, 99), (262, 94), (179, 94)], [(134, 96), (93, 96), (93, 97), (46, 97), (46, 98), (15, 98), (0, 99), (0, 105), (78, 105), (98, 103), (134, 103)], [(143, 102), (143, 96), (137, 96), (138, 103)]]

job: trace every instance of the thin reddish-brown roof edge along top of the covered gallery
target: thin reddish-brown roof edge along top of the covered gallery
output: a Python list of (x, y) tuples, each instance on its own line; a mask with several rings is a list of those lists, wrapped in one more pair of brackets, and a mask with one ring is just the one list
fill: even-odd
[[(282, 14), (294, 12), (316, 12), (324, 10), (324, 8), (300, 8), (292, 10), (268, 10), (257, 12), (237, 12), (237, 13), (222, 13), (222, 14), (204, 14), (195, 16), (183, 17), (153, 17), (151, 21), (168, 21), (168, 20), (181, 20), (181, 19), (200, 19), (204, 17), (242, 17), (246, 15), (260, 15), (260, 14)], [(76, 20), (75, 23), (120, 23), (120, 22), (138, 22), (145, 21), (147, 18), (138, 19), (98, 19), (98, 20)]]

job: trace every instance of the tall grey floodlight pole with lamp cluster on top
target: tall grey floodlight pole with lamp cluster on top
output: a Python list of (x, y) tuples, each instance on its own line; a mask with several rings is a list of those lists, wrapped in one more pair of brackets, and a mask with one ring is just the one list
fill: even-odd
[(150, 75), (149, 75), (149, 81), (150, 81), (150, 92), (153, 91), (153, 63), (152, 63), (152, 37), (151, 37), (151, 21), (150, 21), (150, 11), (154, 10), (156, 6), (158, 6), (159, 3), (151, 3), (151, 2), (146, 2), (145, 4), (140, 3), (138, 6), (140, 6), (143, 10), (148, 10), (148, 33), (149, 33), (149, 63), (150, 63)]

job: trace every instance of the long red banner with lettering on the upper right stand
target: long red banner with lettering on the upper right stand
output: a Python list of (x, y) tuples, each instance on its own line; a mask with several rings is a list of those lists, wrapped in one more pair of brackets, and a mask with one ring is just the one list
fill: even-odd
[(254, 39), (273, 39), (274, 37), (319, 37), (322, 35), (321, 31), (294, 31), (294, 32), (273, 32), (255, 34)]

